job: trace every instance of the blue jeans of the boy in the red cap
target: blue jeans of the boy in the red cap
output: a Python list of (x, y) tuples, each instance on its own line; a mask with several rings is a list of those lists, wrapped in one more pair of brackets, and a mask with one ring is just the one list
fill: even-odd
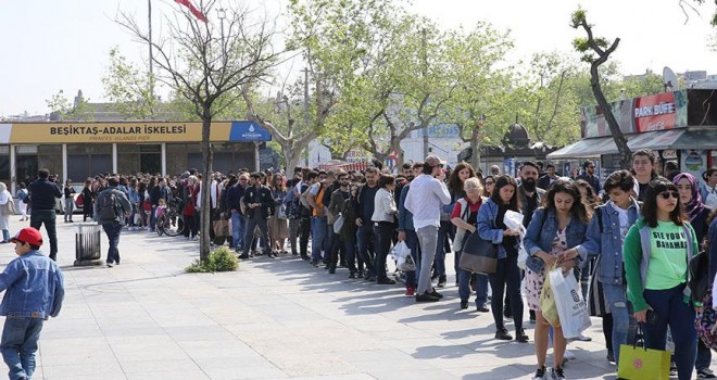
[(5, 319), (0, 352), (10, 369), (8, 372), (10, 380), (33, 377), (42, 322), (41, 318), (8, 317)]

